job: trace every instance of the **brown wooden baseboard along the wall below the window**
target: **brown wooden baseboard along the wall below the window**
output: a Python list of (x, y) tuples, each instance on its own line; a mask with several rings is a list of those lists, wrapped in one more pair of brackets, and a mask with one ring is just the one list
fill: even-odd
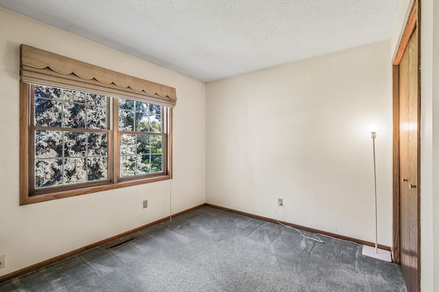
[[(193, 208), (189, 208), (187, 210), (184, 210), (182, 212), (178, 212), (178, 213), (172, 215), (172, 217), (173, 218), (174, 217), (178, 217), (178, 216), (183, 215), (183, 214), (185, 214), (187, 212), (191, 212), (192, 210), (198, 209), (198, 208), (200, 208), (202, 206), (205, 206), (205, 204), (201, 204), (201, 205), (195, 206)], [(77, 250), (72, 250), (71, 252), (67, 252), (65, 254), (61, 254), (60, 256), (55, 256), (54, 258), (49, 258), (48, 260), (43, 260), (43, 262), (36, 263), (36, 264), (31, 265), (29, 267), (25, 267), (23, 269), (19, 269), (18, 271), (13, 271), (12, 273), (8, 273), (8, 274), (6, 274), (4, 276), (0, 276), (0, 283), (8, 281), (8, 280), (11, 280), (11, 279), (19, 277), (19, 276), (23, 276), (25, 273), (30, 273), (31, 271), (35, 271), (36, 269), (39, 269), (40, 267), (45, 267), (47, 265), (50, 265), (50, 264), (58, 262), (58, 260), (62, 260), (64, 258), (68, 258), (69, 256), (74, 256), (75, 254), (80, 254), (81, 252), (85, 252), (86, 250), (91, 250), (92, 248), (98, 247), (99, 245), (103, 245), (105, 243), (109, 243), (110, 241), (114, 241), (114, 240), (119, 239), (119, 238), (121, 238), (123, 236), (126, 236), (128, 234), (132, 234), (134, 232), (137, 232), (137, 231), (142, 230), (144, 228), (148, 228), (148, 227), (156, 225), (158, 223), (162, 223), (162, 222), (167, 221), (169, 219), (170, 219), (170, 216), (167, 216), (165, 218), (158, 219), (158, 220), (156, 220), (154, 222), (151, 222), (151, 223), (147, 223), (147, 224), (145, 224), (143, 226), (139, 226), (139, 227), (134, 228), (132, 230), (128, 230), (128, 231), (123, 232), (121, 234), (117, 234), (115, 236), (108, 237), (108, 239), (103, 239), (102, 241), (97, 241), (96, 243), (92, 243), (91, 245), (86, 245), (84, 247), (78, 248)]]

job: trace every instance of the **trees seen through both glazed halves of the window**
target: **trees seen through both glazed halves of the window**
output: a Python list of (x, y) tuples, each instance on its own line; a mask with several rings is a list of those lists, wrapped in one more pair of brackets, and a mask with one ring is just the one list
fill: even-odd
[[(110, 121), (110, 97), (33, 86), (34, 188), (109, 181), (112, 131), (120, 134), (120, 178), (163, 172), (163, 108), (118, 99)], [(117, 125), (116, 125), (117, 123)], [(110, 157), (111, 158), (111, 157)], [(32, 162), (31, 162), (32, 163)]]

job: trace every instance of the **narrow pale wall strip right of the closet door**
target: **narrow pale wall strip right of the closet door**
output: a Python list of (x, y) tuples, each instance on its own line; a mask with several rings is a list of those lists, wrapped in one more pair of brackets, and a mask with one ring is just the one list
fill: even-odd
[(439, 291), (439, 3), (420, 7), (421, 289)]

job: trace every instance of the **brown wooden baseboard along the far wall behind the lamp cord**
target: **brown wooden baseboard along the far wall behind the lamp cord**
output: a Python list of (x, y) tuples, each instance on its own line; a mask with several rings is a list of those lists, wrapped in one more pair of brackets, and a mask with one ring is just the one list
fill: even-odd
[[(268, 218), (268, 217), (262, 217), (262, 216), (259, 216), (259, 215), (253, 215), (253, 214), (250, 214), (250, 213), (247, 213), (247, 212), (233, 210), (233, 209), (225, 208), (225, 207), (222, 207), (222, 206), (216, 206), (216, 205), (208, 204), (208, 203), (206, 203), (206, 206), (278, 224), (276, 219), (272, 219), (272, 218)], [(311, 232), (311, 233), (314, 233), (314, 234), (323, 234), (323, 235), (334, 237), (335, 239), (342, 239), (344, 241), (353, 241), (353, 242), (361, 244), (361, 245), (369, 245), (369, 246), (375, 247), (375, 243), (371, 243), (370, 241), (363, 241), (361, 239), (354, 239), (353, 237), (343, 236), (343, 235), (340, 235), (340, 234), (326, 232), (326, 231), (322, 231), (322, 230), (318, 230), (318, 229), (314, 229), (314, 228), (308, 228), (308, 227), (305, 227), (305, 226), (300, 226), (300, 225), (289, 223), (289, 222), (285, 222), (285, 221), (279, 221), (279, 222), (281, 222), (281, 223), (283, 223), (283, 224), (285, 224), (287, 226), (291, 226), (291, 227), (294, 227), (294, 228), (297, 228), (297, 229), (300, 229), (300, 230), (305, 230), (307, 232)], [(379, 244), (378, 247), (381, 248), (382, 250), (390, 250), (390, 247), (388, 247), (387, 245)]]

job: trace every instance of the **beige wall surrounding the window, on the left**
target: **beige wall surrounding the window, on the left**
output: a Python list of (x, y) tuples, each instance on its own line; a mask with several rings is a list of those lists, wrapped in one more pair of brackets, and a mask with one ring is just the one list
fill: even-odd
[(172, 212), (205, 202), (203, 82), (0, 8), (0, 276), (169, 215), (169, 181), (19, 206), (21, 43), (175, 87)]

